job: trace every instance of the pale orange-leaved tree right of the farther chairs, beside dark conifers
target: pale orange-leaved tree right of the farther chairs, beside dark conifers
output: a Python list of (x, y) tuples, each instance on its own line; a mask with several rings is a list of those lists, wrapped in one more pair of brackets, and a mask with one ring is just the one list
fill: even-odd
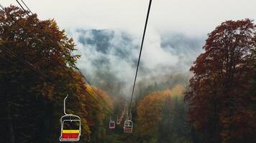
[[(161, 121), (163, 107), (167, 101), (173, 97), (183, 98), (184, 87), (176, 85), (172, 90), (166, 89), (163, 92), (154, 92), (145, 96), (138, 104), (138, 128), (142, 136), (155, 134), (157, 136), (157, 127)], [(170, 105), (170, 108), (173, 105)], [(157, 137), (155, 137), (157, 138)]]

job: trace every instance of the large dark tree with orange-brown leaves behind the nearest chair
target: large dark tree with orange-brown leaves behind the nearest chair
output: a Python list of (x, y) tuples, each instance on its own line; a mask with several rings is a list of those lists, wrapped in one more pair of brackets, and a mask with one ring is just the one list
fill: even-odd
[(58, 142), (67, 94), (67, 112), (81, 117), (81, 140), (88, 141), (86, 87), (74, 50), (55, 21), (16, 6), (0, 11), (1, 142)]

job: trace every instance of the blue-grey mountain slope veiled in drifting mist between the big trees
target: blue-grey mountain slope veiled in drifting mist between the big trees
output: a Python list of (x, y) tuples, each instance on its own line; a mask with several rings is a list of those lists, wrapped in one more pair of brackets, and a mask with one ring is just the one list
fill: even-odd
[[(109, 94), (129, 95), (134, 80), (141, 36), (117, 30), (75, 29), (69, 31), (81, 54), (78, 66), (93, 85)], [(203, 38), (183, 34), (158, 34), (149, 29), (142, 51), (138, 81), (174, 73), (188, 73), (201, 53)], [(152, 78), (154, 77), (154, 78)], [(161, 79), (161, 78), (160, 78)], [(161, 82), (158, 81), (157, 82)], [(163, 81), (164, 82), (164, 81)]]

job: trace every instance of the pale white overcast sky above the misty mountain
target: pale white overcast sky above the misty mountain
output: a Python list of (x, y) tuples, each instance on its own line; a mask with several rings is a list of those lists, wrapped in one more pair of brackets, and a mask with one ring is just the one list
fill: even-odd
[[(142, 33), (148, 0), (24, 0), (41, 19), (61, 28), (122, 29)], [(15, 0), (1, 4), (17, 5)], [(256, 0), (153, 0), (149, 27), (205, 36), (228, 19), (256, 19)]]

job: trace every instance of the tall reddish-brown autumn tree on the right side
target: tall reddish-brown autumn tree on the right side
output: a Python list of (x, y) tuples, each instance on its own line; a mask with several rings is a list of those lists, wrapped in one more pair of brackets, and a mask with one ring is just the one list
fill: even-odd
[(248, 107), (255, 103), (255, 31), (250, 19), (225, 21), (209, 34), (191, 67), (188, 115), (209, 142), (255, 141), (255, 108)]

